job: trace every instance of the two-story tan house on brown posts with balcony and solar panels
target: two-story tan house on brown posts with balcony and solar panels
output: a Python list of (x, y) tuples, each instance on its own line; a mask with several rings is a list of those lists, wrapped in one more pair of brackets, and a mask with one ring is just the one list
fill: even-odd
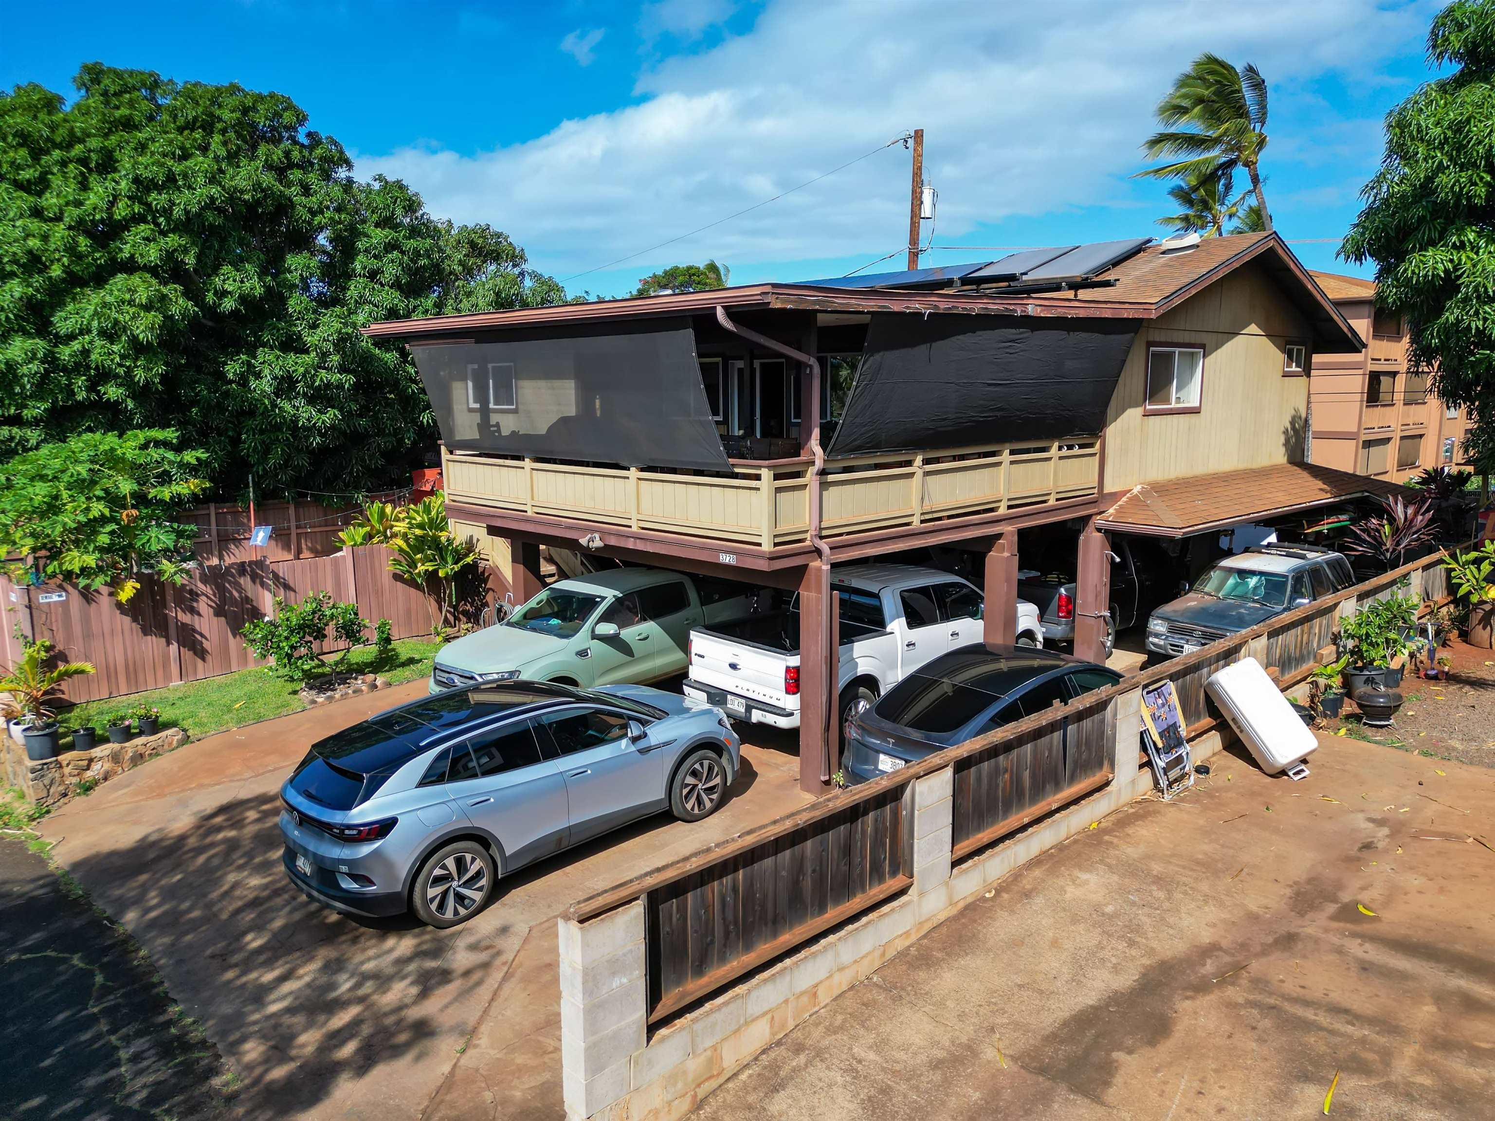
[(987, 637), (1011, 641), (1018, 531), (1079, 525), (1075, 649), (1099, 656), (1108, 534), (1212, 534), (1380, 486), (1302, 462), (1295, 356), (1362, 342), (1275, 235), (368, 333), (411, 348), (453, 523), (516, 601), (541, 544), (798, 592), (806, 789), (836, 765), (833, 565), (981, 550)]

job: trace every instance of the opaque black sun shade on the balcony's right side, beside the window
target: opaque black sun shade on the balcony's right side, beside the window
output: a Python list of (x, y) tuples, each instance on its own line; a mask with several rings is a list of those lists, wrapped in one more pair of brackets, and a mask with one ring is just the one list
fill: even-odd
[(1136, 323), (873, 315), (831, 456), (1097, 435)]

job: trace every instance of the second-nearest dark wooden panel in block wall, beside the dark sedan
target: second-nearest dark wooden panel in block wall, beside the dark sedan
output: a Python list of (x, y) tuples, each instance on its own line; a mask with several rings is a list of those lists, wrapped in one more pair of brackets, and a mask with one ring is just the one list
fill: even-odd
[(1081, 698), (1055, 717), (955, 761), (954, 859), (1111, 780), (1115, 705)]

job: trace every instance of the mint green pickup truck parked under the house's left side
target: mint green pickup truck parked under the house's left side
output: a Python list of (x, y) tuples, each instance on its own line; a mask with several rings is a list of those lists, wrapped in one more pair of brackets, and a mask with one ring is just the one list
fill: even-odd
[(661, 568), (559, 580), (437, 653), (431, 692), (478, 682), (643, 685), (685, 673), (691, 628), (765, 614), (774, 593)]

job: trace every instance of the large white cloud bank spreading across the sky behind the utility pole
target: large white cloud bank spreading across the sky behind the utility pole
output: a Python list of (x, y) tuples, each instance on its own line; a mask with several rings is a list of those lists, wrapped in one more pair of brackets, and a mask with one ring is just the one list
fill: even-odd
[[(1372, 81), (1380, 60), (1422, 37), (1431, 12), (1429, 0), (1096, 0), (1057, 9), (780, 0), (749, 33), (643, 73), (635, 105), (477, 155), (363, 155), (359, 172), (405, 178), (434, 212), (489, 221), (537, 268), (570, 277), (921, 126), (943, 242), (982, 221), (1127, 202), (1124, 178), (1141, 166), (1153, 108), (1203, 49), (1256, 63), (1281, 112), (1295, 88), (1328, 72)], [(870, 259), (898, 247), (906, 214), (907, 157), (896, 148), (625, 268), (644, 275), (683, 259)], [(1151, 217), (1138, 212), (1130, 232), (1151, 233)], [(736, 274), (753, 278), (752, 268)]]

